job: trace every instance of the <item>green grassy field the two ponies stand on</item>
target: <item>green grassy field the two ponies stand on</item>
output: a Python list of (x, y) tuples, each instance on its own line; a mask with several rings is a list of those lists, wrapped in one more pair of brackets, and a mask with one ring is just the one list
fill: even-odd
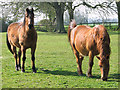
[(2, 36), (2, 88), (118, 88), (118, 32), (110, 31), (111, 56), (108, 81), (100, 79), (98, 60), (94, 58), (93, 78), (85, 74), (88, 57), (83, 61), (84, 76), (77, 75), (75, 56), (67, 34), (38, 33), (36, 50), (37, 73), (32, 73), (30, 50), (27, 50), (25, 73), (15, 71), (13, 55), (6, 46), (6, 33)]

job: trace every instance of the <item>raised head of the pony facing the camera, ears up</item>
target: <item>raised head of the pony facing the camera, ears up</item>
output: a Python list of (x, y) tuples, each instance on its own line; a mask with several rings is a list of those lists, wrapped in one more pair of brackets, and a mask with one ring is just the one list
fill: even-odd
[(34, 10), (33, 10), (33, 8), (31, 10), (28, 8), (26, 9), (24, 23), (26, 23), (26, 22), (28, 24), (29, 29), (34, 27)]

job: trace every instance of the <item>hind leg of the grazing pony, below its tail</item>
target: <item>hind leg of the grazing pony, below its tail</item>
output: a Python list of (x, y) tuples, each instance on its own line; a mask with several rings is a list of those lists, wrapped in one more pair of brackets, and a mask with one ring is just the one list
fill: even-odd
[(83, 57), (81, 55), (79, 55), (79, 52), (77, 50), (74, 50), (74, 54), (76, 56), (78, 75), (83, 75), (83, 72), (82, 72), (82, 60), (83, 60)]

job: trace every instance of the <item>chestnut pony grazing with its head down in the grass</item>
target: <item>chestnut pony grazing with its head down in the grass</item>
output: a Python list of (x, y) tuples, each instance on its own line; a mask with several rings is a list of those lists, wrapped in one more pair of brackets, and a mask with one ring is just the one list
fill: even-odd
[(109, 73), (110, 57), (110, 38), (103, 25), (97, 25), (93, 28), (85, 25), (76, 25), (72, 20), (68, 27), (68, 39), (76, 56), (78, 65), (78, 74), (82, 75), (82, 60), (84, 56), (89, 56), (88, 77), (92, 77), (92, 66), (94, 56), (100, 55), (99, 66), (101, 70), (101, 79), (107, 81)]

